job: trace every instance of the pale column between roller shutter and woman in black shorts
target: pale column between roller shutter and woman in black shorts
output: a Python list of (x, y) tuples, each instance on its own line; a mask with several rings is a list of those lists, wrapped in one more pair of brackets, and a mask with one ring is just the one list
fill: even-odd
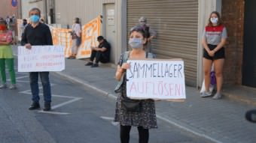
[(217, 10), (221, 13), (221, 0), (199, 0), (198, 13), (198, 50), (197, 50), (197, 87), (201, 87), (204, 79), (203, 73), (203, 29), (207, 24), (210, 13)]

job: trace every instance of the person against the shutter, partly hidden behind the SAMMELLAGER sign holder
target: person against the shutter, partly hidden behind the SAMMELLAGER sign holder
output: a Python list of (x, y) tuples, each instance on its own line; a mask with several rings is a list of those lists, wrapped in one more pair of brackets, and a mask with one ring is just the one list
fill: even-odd
[(147, 44), (144, 46), (145, 51), (152, 52), (151, 40), (157, 37), (157, 32), (147, 24), (147, 19), (143, 16), (139, 18), (139, 25), (142, 26), (145, 31), (145, 36), (147, 37)]

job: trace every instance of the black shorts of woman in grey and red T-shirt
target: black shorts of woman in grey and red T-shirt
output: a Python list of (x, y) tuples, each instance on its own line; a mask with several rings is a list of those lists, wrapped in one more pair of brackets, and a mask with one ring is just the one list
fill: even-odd
[[(213, 50), (217, 47), (217, 45), (211, 45), (208, 44), (208, 47), (210, 50)], [(207, 58), (209, 60), (216, 60), (216, 59), (220, 59), (220, 58), (225, 58), (225, 49), (224, 47), (222, 47), (221, 49), (218, 49), (217, 52), (215, 52), (215, 55), (213, 57), (211, 57), (208, 52), (206, 51), (206, 49), (203, 49), (203, 58)]]

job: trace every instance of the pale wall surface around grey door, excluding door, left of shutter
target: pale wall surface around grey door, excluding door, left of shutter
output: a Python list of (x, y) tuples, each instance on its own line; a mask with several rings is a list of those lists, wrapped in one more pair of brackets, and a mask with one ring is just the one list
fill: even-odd
[[(81, 24), (84, 25), (96, 16), (104, 16), (104, 4), (115, 4), (117, 37), (115, 38), (116, 43), (111, 46), (112, 49), (117, 49), (114, 55), (114, 64), (117, 64), (120, 53), (126, 49), (126, 0), (55, 0), (55, 20), (56, 23), (62, 25), (62, 28), (67, 28), (67, 25), (70, 28), (73, 19), (79, 17)], [(105, 36), (104, 31), (104, 26), (102, 26), (103, 36)]]

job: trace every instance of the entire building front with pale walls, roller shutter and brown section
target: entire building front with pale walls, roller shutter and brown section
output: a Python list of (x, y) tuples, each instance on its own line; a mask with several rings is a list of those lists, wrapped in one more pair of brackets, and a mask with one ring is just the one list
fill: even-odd
[[(37, 0), (39, 1), (39, 0)], [(254, 52), (255, 13), (251, 0), (47, 0), (46, 14), (62, 28), (75, 17), (82, 25), (102, 15), (102, 35), (111, 43), (111, 62), (117, 64), (127, 48), (128, 33), (145, 16), (157, 31), (152, 41), (157, 58), (182, 58), (187, 85), (203, 82), (203, 28), (213, 10), (221, 13), (228, 31), (224, 85), (256, 87)], [(50, 13), (49, 13), (50, 11)], [(246, 56), (245, 56), (246, 55)], [(249, 55), (249, 56), (248, 56)], [(253, 77), (253, 78), (251, 78)]]

